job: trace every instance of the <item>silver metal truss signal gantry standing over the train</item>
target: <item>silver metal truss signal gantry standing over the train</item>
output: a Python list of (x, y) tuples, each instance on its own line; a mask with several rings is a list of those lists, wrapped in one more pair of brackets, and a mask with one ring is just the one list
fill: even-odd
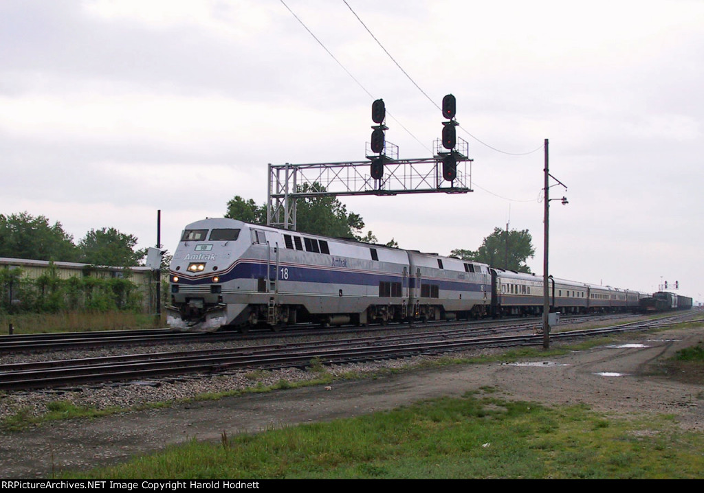
[[(473, 160), (467, 158), (467, 142), (458, 139), (457, 150), (450, 152), (442, 152), (439, 141), (434, 147), (433, 158), (399, 160), (394, 158), (398, 148), (387, 142), (381, 179), (373, 179), (370, 174), (370, 160), (378, 155), (369, 155), (366, 161), (270, 164), (267, 224), (295, 230), (298, 198), (471, 192)], [(387, 151), (391, 151), (391, 157), (386, 156)], [(444, 179), (442, 172), (448, 157), (458, 165), (452, 181)]]

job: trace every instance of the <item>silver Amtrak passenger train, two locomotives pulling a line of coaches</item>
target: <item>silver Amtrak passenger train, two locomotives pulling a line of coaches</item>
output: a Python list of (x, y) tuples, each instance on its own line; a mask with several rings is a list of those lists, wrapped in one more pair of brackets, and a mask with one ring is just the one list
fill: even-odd
[[(192, 331), (543, 312), (542, 276), (234, 219), (187, 226), (170, 290), (169, 326)], [(551, 310), (563, 314), (643, 311), (650, 297), (552, 277), (548, 293)]]

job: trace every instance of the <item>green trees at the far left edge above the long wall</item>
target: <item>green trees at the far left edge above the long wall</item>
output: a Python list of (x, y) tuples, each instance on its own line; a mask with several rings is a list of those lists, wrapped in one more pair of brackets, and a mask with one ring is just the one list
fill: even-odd
[(51, 226), (46, 217), (25, 211), (0, 215), (0, 257), (75, 262), (78, 251), (60, 222)]

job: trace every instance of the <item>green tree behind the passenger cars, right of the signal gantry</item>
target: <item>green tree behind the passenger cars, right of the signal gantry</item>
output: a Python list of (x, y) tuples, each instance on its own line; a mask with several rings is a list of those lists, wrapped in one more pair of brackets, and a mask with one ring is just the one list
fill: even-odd
[(452, 250), (450, 255), (463, 260), (489, 264), (498, 269), (529, 273), (530, 268), (525, 262), (535, 255), (532, 241), (533, 238), (527, 229), (506, 231), (494, 228), (494, 233), (484, 238), (484, 242), (476, 252), (458, 249)]

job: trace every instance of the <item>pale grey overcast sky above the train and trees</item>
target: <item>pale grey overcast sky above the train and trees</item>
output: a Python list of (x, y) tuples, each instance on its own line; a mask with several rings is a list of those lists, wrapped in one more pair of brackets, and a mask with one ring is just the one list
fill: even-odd
[(452, 93), (474, 191), (341, 198), (380, 242), (448, 255), (508, 222), (541, 274), (549, 139), (550, 274), (704, 300), (704, 1), (0, 0), (0, 46), (0, 213), (75, 241), (154, 245), (161, 210), (173, 252), (265, 203), (268, 163), (364, 160), (375, 98), (428, 158)]

